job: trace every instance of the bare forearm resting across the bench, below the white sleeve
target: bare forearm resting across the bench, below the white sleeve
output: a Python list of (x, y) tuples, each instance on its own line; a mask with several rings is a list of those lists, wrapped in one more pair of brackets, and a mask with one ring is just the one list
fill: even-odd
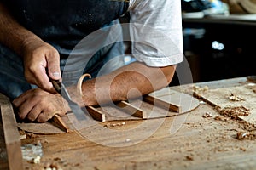
[(134, 99), (166, 87), (171, 81), (176, 66), (148, 67), (143, 63), (125, 65), (113, 73), (83, 83), (83, 100), (76, 94), (79, 105), (102, 105), (110, 101)]

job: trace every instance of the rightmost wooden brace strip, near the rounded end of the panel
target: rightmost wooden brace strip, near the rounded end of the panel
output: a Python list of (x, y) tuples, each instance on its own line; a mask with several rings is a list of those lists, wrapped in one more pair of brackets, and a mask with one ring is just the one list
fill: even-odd
[(143, 100), (148, 102), (149, 104), (159, 105), (160, 107), (169, 109), (169, 111), (173, 111), (173, 112), (177, 112), (177, 113), (182, 112), (182, 107), (180, 105), (175, 105), (175, 104), (172, 104), (171, 102), (166, 102), (157, 97), (145, 95), (145, 96), (143, 96)]

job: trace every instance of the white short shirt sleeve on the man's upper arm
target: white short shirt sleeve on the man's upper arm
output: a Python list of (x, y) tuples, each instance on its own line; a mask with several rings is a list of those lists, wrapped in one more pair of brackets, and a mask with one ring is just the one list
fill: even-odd
[(149, 66), (176, 65), (183, 61), (181, 2), (131, 0), (131, 53)]

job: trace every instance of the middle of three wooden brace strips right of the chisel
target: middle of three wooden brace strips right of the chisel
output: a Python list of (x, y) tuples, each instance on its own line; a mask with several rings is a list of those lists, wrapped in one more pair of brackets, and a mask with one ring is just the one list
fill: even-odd
[(135, 105), (131, 105), (130, 103), (126, 102), (126, 101), (120, 101), (119, 103), (117, 103), (117, 105), (122, 108), (123, 110), (129, 112), (131, 114), (131, 116), (136, 116), (142, 119), (146, 119), (147, 118), (147, 113), (146, 111), (141, 110), (140, 108), (138, 108)]

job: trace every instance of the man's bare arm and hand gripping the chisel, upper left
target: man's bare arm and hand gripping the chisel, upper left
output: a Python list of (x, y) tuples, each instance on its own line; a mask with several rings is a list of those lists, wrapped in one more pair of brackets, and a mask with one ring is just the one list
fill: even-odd
[(55, 93), (49, 77), (61, 79), (59, 53), (32, 31), (20, 26), (3, 3), (0, 3), (0, 42), (23, 58), (27, 82)]

